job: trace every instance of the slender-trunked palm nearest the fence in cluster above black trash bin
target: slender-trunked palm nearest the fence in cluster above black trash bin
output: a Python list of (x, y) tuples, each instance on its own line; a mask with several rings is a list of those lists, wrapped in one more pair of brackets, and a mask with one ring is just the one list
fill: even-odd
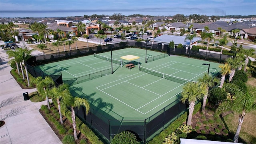
[[(24, 46), (24, 48), (19, 48), (18, 52), (19, 52), (19, 58), (20, 58), (20, 63), (24, 63), (24, 68), (25, 68), (25, 72), (26, 72), (26, 77), (27, 77), (27, 81), (28, 81), (28, 86), (30, 86), (30, 82), (29, 82), (29, 77), (28, 77), (28, 68), (26, 65), (26, 61), (32, 57), (31, 53), (34, 51), (34, 49), (32, 50), (28, 50), (26, 48), (26, 46)], [(21, 67), (22, 69), (22, 67)]]

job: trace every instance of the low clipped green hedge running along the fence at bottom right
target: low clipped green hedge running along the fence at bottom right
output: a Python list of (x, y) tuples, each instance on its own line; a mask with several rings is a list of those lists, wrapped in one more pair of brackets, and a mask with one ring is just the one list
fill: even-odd
[[(196, 114), (201, 108), (201, 102), (196, 104), (193, 114)], [(162, 144), (164, 142), (164, 138), (168, 137), (172, 132), (180, 127), (184, 122), (186, 122), (188, 117), (188, 111), (184, 112), (178, 119), (174, 120), (166, 129), (164, 129), (160, 134), (152, 138), (152, 140), (148, 141), (147, 144)]]

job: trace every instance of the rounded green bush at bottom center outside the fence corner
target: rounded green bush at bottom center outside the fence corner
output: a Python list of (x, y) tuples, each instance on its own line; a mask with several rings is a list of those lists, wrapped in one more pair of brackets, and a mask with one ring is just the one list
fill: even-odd
[(132, 132), (123, 131), (114, 136), (112, 144), (140, 144), (136, 139)]

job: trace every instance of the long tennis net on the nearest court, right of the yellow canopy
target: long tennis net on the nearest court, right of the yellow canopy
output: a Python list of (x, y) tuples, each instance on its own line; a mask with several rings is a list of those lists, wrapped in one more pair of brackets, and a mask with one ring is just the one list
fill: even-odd
[(155, 70), (151, 70), (151, 69), (148, 69), (148, 68), (144, 68), (142, 66), (140, 66), (140, 71), (142, 72), (146, 72), (148, 74), (152, 74), (154, 76), (158, 76), (160, 78), (165, 78), (166, 80), (170, 80), (170, 81), (173, 81), (173, 82), (177, 82), (179, 84), (186, 84), (188, 82), (195, 82), (195, 81), (192, 81), (192, 80), (187, 80), (187, 79), (184, 79), (184, 78), (179, 78), (179, 77), (176, 77), (176, 76), (171, 76), (169, 74), (164, 74), (162, 72), (157, 72)]

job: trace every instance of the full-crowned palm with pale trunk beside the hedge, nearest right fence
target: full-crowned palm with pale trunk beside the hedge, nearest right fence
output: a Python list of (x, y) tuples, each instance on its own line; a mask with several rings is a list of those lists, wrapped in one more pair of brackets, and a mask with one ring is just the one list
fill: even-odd
[(198, 84), (198, 83), (189, 82), (182, 89), (183, 91), (181, 93), (180, 100), (184, 104), (186, 102), (189, 103), (187, 125), (190, 126), (196, 100), (200, 100), (204, 95), (206, 95), (207, 85), (204, 83)]

